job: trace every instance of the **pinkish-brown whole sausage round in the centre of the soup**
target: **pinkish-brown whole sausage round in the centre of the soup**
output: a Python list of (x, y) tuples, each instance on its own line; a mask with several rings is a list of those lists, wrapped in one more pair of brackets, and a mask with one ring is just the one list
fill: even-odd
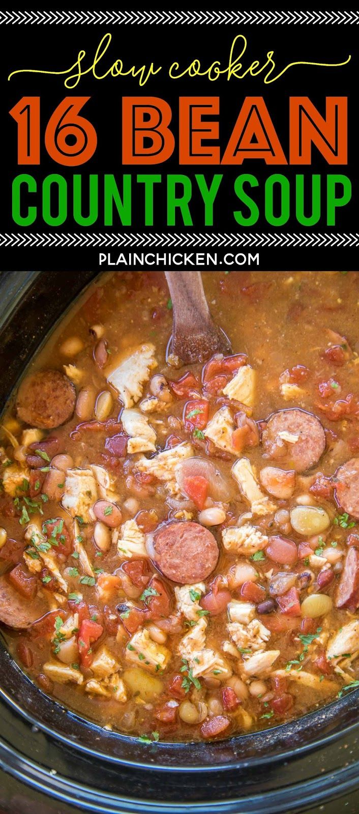
[(205, 580), (217, 565), (212, 532), (199, 523), (167, 523), (154, 538), (155, 561), (169, 580), (191, 584)]

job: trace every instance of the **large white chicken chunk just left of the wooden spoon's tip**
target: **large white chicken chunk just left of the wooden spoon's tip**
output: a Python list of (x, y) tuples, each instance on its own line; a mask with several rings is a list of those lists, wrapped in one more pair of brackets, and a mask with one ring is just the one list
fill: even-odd
[(138, 345), (107, 376), (126, 408), (133, 407), (141, 398), (144, 383), (150, 378), (151, 370), (157, 367), (154, 352), (155, 346), (151, 343)]

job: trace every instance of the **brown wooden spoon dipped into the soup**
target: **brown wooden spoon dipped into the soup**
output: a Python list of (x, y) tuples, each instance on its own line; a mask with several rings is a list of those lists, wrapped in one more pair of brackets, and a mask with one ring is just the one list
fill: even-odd
[(199, 271), (166, 271), (173, 304), (171, 352), (182, 361), (203, 361), (231, 352), (230, 340), (213, 322)]

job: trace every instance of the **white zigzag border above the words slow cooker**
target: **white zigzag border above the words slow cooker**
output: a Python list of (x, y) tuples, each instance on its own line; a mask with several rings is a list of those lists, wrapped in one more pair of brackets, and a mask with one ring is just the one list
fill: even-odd
[(353, 25), (359, 11), (0, 11), (0, 25)]

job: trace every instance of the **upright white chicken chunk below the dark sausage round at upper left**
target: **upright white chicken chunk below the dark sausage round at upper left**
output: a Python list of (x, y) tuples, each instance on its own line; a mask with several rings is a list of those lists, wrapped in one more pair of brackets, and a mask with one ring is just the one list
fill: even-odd
[(84, 523), (90, 523), (92, 519), (90, 509), (98, 497), (92, 469), (67, 470), (62, 505), (72, 517), (81, 517)]

